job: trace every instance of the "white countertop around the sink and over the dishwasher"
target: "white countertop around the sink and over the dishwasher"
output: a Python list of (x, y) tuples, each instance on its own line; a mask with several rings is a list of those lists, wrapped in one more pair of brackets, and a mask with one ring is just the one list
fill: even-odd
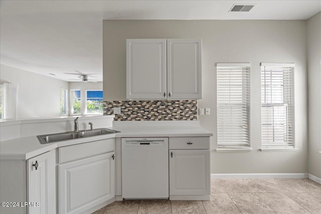
[(29, 159), (61, 146), (91, 142), (114, 137), (205, 137), (213, 136), (199, 126), (108, 127), (120, 131), (115, 134), (84, 137), (55, 143), (40, 144), (37, 136), (20, 137), (0, 142), (0, 159)]

